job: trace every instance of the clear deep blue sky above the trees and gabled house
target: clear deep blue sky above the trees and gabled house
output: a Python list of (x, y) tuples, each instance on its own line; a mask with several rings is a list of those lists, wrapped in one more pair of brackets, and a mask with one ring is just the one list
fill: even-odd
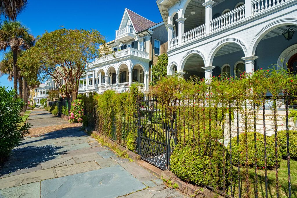
[[(28, 0), (26, 9), (18, 15), (23, 25), (34, 37), (45, 30), (54, 31), (64, 26), (68, 29), (97, 29), (106, 41), (113, 40), (119, 28), (125, 8), (155, 22), (162, 21), (155, 0)], [(149, 3), (150, 2), (150, 3)], [(0, 86), (13, 86), (7, 76), (0, 77)]]

